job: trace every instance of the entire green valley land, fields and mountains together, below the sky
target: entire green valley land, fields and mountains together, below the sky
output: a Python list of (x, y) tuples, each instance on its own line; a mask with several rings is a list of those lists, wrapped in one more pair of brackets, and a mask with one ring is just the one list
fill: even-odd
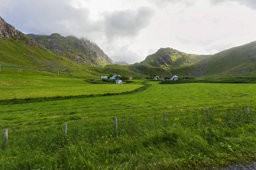
[[(24, 35), (2, 18), (0, 28), (2, 169), (255, 162), (256, 41), (214, 55), (160, 48), (119, 65), (86, 39)], [(101, 79), (113, 75), (125, 83)]]

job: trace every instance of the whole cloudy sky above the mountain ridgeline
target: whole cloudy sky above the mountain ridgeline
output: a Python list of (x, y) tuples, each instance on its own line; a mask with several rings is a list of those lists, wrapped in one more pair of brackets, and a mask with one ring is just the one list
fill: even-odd
[(256, 41), (255, 0), (0, 0), (0, 16), (23, 33), (86, 38), (114, 62), (159, 48), (215, 54)]

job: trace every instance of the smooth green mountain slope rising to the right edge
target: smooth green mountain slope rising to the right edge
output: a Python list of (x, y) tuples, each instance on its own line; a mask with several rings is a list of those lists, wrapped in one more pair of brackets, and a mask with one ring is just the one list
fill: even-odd
[(256, 76), (256, 41), (224, 50), (174, 71), (193, 76)]

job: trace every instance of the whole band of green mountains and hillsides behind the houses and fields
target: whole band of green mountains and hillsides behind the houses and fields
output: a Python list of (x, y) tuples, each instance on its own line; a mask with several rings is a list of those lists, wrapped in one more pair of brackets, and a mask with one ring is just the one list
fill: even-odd
[[(113, 65), (113, 61), (96, 45), (85, 39), (30, 34), (30, 37), (7, 24), (0, 17), (0, 64), (2, 73), (10, 69), (27, 69), (58, 73), (84, 79), (120, 74), (134, 78), (159, 75), (178, 76), (255, 76), (256, 41), (213, 56), (187, 54), (160, 48), (134, 65)], [(9, 69), (9, 70), (8, 70)]]

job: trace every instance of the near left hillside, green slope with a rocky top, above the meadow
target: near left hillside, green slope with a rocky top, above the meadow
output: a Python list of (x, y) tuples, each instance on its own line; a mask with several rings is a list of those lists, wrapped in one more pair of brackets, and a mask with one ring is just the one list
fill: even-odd
[[(52, 35), (53, 39), (58, 35)], [(73, 37), (69, 37), (73, 39)], [(74, 38), (75, 41), (77, 40)], [(95, 45), (95, 48), (97, 46)], [(103, 53), (103, 52), (102, 52)], [(96, 56), (98, 54), (96, 53)], [(111, 61), (110, 61), (111, 62)], [(100, 63), (100, 62), (97, 62)], [(109, 63), (109, 62), (107, 62)], [(0, 64), (1, 73), (13, 74), (21, 70), (36, 70), (48, 73), (60, 73), (60, 76), (72, 76), (85, 79), (97, 79), (101, 74), (101, 67), (94, 68), (85, 62), (77, 62), (76, 59), (67, 57), (64, 53), (52, 52), (44, 48), (34, 39), (15, 29), (0, 17)], [(98, 71), (94, 71), (98, 70)], [(18, 73), (19, 73), (18, 72)], [(24, 71), (23, 73), (24, 74)]]

